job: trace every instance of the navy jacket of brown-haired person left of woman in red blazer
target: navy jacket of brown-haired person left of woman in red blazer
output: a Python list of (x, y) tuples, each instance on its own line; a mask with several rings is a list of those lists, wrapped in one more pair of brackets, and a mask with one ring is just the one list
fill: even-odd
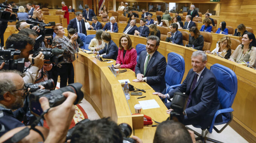
[(118, 48), (116, 43), (113, 40), (109, 41), (108, 47), (107, 47), (107, 44), (105, 44), (104, 49), (100, 50), (99, 53), (100, 54), (106, 53), (106, 55), (102, 56), (104, 59), (116, 60), (117, 54), (118, 54)]

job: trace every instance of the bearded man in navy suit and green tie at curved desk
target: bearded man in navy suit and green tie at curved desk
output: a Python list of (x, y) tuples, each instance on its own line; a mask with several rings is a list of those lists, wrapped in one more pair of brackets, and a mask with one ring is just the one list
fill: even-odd
[(151, 35), (147, 38), (147, 51), (140, 53), (139, 60), (135, 67), (137, 79), (134, 82), (147, 82), (156, 92), (165, 93), (165, 57), (157, 51), (160, 39)]

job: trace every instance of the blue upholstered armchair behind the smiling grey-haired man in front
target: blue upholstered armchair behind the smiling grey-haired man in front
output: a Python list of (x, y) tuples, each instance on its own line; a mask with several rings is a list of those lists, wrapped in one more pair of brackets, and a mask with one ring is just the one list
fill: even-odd
[[(220, 65), (218, 63), (211, 66), (210, 71), (213, 72), (217, 79), (218, 84), (218, 98), (221, 103), (222, 109), (217, 110), (213, 120), (211, 122), (211, 126), (208, 128), (208, 131), (211, 133), (213, 129), (217, 133), (221, 133), (231, 122), (233, 119), (232, 111), (234, 111), (231, 106), (234, 102), (234, 98), (236, 96), (237, 92), (237, 78), (236, 74), (229, 68)], [(221, 123), (214, 123), (217, 115), (222, 114), (222, 122)], [(221, 125), (226, 124), (223, 126), (220, 130), (217, 129), (214, 125)], [(200, 128), (198, 125), (193, 125), (196, 128)], [(195, 131), (194, 131), (195, 132)], [(206, 140), (214, 142), (214, 143), (220, 143), (220, 141), (211, 139), (206, 137), (206, 129), (202, 130), (202, 134), (198, 134), (195, 132), (195, 134), (198, 136), (196, 140), (202, 140), (205, 142)]]

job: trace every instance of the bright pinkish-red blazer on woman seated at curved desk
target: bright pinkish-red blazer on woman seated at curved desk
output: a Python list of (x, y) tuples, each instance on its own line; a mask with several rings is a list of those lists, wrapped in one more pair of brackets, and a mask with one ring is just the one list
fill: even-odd
[(116, 64), (117, 63), (120, 64), (121, 68), (128, 68), (134, 71), (137, 64), (137, 51), (134, 48), (132, 48), (131, 50), (127, 50), (125, 53), (125, 57), (123, 57), (123, 49), (119, 49), (116, 59)]

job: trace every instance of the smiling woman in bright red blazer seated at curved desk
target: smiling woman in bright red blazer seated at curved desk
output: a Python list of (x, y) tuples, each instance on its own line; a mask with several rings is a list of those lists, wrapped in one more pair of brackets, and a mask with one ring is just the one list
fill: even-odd
[(128, 35), (122, 35), (119, 39), (119, 50), (115, 68), (128, 68), (135, 70), (137, 64), (137, 51), (131, 47), (131, 39)]

